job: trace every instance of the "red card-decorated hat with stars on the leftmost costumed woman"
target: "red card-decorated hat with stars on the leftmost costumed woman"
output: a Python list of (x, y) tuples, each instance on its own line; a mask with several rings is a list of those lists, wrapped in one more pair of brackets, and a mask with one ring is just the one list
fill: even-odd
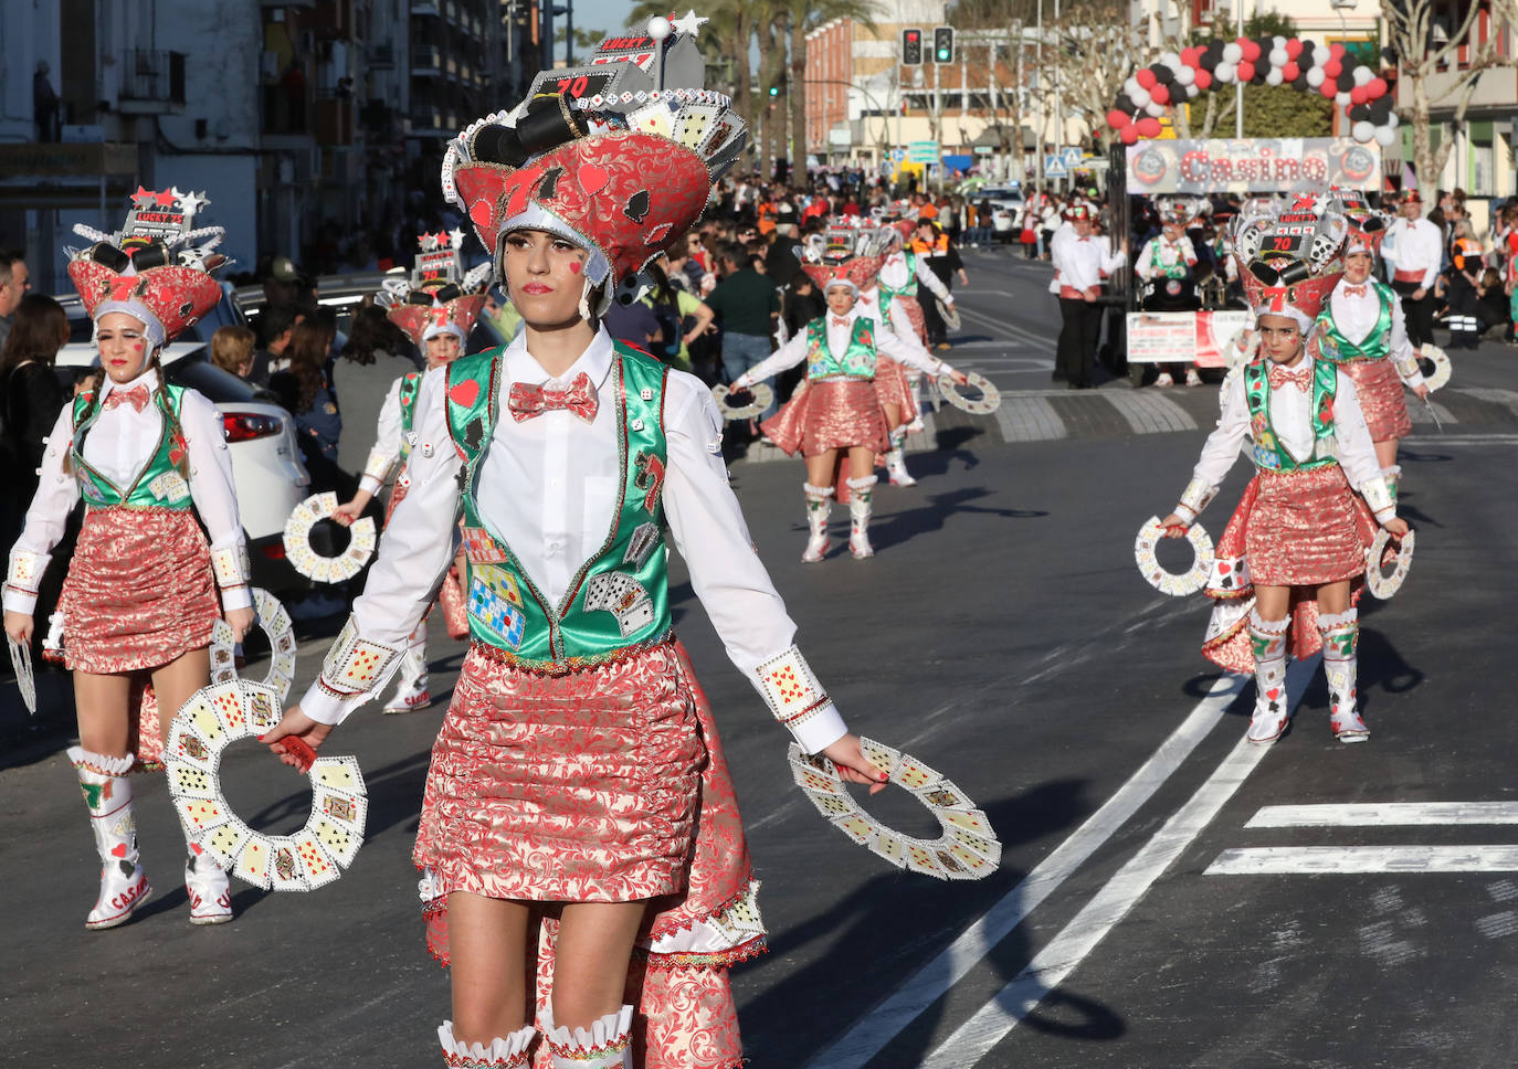
[(211, 311), (222, 299), (211, 271), (229, 261), (216, 252), (226, 230), (194, 227), (196, 214), (209, 203), (203, 193), (138, 187), (120, 230), (76, 224), (74, 234), (94, 243), (67, 250), (68, 277), (90, 317), (126, 312), (158, 349)]

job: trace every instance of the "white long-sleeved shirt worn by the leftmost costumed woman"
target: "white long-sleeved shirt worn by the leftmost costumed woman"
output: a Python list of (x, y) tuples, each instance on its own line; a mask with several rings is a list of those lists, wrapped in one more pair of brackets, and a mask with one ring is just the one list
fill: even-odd
[[(149, 394), (158, 393), (158, 373), (147, 370), (131, 382), (117, 385), (106, 378), (100, 390), (100, 403), (115, 390), (131, 390), (146, 385)], [(190, 499), (194, 502), (200, 522), (211, 535), (211, 550), (234, 549), (243, 543), (243, 523), (237, 514), (237, 488), (232, 482), (232, 453), (226, 447), (226, 428), (222, 414), (209, 400), (194, 390), (184, 391), (179, 408), (179, 426), (184, 429), (190, 464)], [(132, 405), (117, 405), (102, 411), (85, 437), (85, 461), (114, 485), (126, 490), (137, 482), (138, 473), (147, 466), (164, 432), (164, 417), (155, 402), (138, 412)], [(26, 511), (26, 526), (12, 552), (50, 556), (53, 546), (64, 537), (68, 514), (79, 502), (79, 482), (64, 472), (64, 458), (73, 444), (74, 408), (64, 405), (58, 414), (53, 432), (47, 437), (47, 452), (38, 470), (41, 482), (32, 506)], [(246, 584), (222, 591), (222, 607), (226, 610), (249, 608), (254, 603)], [(36, 596), (14, 587), (6, 587), (5, 610), (27, 613), (36, 608)]]

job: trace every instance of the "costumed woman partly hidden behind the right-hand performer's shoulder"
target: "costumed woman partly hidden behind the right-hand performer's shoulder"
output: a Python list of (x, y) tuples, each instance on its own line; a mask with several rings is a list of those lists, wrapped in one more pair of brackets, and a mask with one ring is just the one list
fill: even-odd
[(1343, 250), (1343, 277), (1333, 288), (1312, 332), (1312, 355), (1337, 364), (1354, 379), (1360, 411), (1375, 443), (1375, 459), (1397, 500), (1403, 470), (1397, 464), (1397, 441), (1412, 434), (1412, 419), (1403, 385), (1428, 396), (1413, 355), (1397, 293), (1374, 277), (1375, 253), (1386, 235), (1384, 220), (1351, 212), (1350, 238)]

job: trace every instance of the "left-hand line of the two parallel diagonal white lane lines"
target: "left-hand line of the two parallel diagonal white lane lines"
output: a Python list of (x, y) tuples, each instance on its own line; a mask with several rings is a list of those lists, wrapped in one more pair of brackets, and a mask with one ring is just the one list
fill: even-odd
[[(917, 1016), (958, 984), (981, 958), (1052, 895), (1102, 843), (1181, 767), (1196, 745), (1243, 690), (1242, 676), (1219, 676), (1207, 696), (1170, 732), (1143, 766), (1069, 839), (1060, 843), (1023, 881), (970, 925), (932, 961), (912, 973), (890, 998), (824, 1048), (809, 1069), (858, 1069)], [(1301, 688), (1298, 688), (1301, 690)]]

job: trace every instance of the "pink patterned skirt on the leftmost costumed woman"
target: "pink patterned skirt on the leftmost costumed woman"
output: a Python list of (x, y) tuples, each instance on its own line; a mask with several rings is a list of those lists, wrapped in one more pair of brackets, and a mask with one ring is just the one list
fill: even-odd
[(90, 508), (59, 597), (70, 670), (137, 672), (211, 644), (211, 549), (190, 509)]

